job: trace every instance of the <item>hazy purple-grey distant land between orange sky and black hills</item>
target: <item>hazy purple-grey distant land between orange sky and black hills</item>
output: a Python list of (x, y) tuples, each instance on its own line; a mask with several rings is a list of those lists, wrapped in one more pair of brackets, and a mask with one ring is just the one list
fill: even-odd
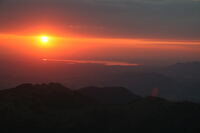
[[(13, 66), (13, 65), (12, 65)], [(104, 66), (97, 64), (18, 64), (0, 66), (0, 87), (22, 82), (57, 81), (73, 89), (82, 86), (124, 86), (141, 96), (158, 88), (158, 96), (169, 100), (200, 102), (200, 62), (170, 66)]]

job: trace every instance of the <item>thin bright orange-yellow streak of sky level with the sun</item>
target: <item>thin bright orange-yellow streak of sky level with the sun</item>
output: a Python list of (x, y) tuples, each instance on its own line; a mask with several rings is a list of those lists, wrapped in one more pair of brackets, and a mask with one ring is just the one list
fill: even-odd
[[(41, 34), (41, 35), (34, 35), (34, 36), (24, 36), (24, 35), (15, 35), (15, 34), (0, 34), (1, 41), (9, 40), (9, 41), (23, 41), (23, 40), (37, 40), (38, 37), (42, 35), (48, 36), (51, 40), (66, 40), (76, 43), (106, 43), (106, 44), (125, 44), (125, 45), (134, 45), (134, 44), (151, 44), (151, 45), (171, 45), (171, 46), (197, 46), (200, 45), (200, 40), (169, 40), (169, 39), (146, 39), (146, 38), (139, 38), (139, 39), (132, 39), (132, 38), (88, 38), (88, 37), (59, 37), (59, 36), (51, 36), (48, 34)], [(51, 42), (50, 42), (51, 43)]]

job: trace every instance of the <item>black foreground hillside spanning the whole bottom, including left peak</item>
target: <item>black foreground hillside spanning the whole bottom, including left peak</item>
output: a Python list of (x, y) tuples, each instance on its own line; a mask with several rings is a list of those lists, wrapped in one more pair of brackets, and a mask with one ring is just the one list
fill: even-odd
[[(87, 92), (92, 88), (88, 89)], [(102, 95), (102, 91), (94, 89)], [(106, 87), (103, 88), (106, 92)], [(109, 88), (108, 88), (109, 89)], [(137, 97), (118, 88), (128, 103), (103, 104), (60, 84), (24, 84), (0, 92), (1, 131), (192, 133), (200, 126), (200, 105)], [(111, 96), (115, 88), (108, 90)], [(83, 91), (83, 90), (82, 90)], [(90, 93), (92, 94), (92, 93)], [(95, 93), (98, 95), (98, 93)], [(90, 95), (91, 96), (91, 95)], [(105, 96), (107, 99), (108, 95)], [(112, 99), (114, 100), (114, 98)], [(110, 102), (110, 101), (109, 101)]]

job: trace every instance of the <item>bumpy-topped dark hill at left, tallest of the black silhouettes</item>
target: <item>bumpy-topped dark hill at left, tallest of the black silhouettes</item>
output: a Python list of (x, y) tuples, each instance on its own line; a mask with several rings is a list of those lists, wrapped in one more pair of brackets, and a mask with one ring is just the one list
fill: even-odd
[(90, 104), (93, 100), (58, 83), (49, 84), (22, 84), (16, 88), (0, 91), (0, 102), (13, 102), (16, 104), (48, 106), (74, 106)]

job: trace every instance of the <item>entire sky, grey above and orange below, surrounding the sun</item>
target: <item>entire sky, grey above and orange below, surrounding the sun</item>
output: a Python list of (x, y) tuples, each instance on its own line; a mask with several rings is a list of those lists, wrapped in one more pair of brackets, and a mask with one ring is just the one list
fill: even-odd
[(199, 16), (199, 0), (0, 0), (0, 59), (199, 60)]

